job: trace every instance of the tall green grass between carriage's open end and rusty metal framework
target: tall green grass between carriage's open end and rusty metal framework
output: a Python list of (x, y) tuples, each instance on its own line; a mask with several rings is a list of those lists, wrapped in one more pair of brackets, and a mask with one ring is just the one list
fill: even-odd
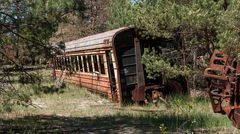
[[(161, 131), (180, 131), (192, 132), (196, 129), (227, 129), (231, 128), (231, 121), (226, 115), (215, 114), (212, 111), (210, 102), (207, 98), (191, 98), (189, 96), (168, 96), (166, 99), (168, 105), (159, 103), (155, 105), (142, 106), (144, 109), (163, 109), (166, 111), (154, 113), (139, 112), (120, 112), (118, 116), (128, 116), (136, 118), (137, 122), (148, 122), (159, 124)], [(126, 107), (135, 107), (128, 105)], [(137, 116), (136, 116), (137, 115)]]

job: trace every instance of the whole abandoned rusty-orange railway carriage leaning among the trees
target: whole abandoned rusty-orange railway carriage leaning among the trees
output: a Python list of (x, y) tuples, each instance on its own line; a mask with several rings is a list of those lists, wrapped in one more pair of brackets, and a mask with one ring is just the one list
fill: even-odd
[(113, 102), (144, 101), (147, 91), (158, 97), (164, 88), (160, 79), (147, 79), (141, 64), (143, 49), (156, 43), (161, 41), (140, 40), (136, 29), (128, 27), (88, 36), (65, 43), (65, 53), (54, 60), (54, 72), (60, 77), (64, 65), (71, 65), (75, 73), (66, 76), (66, 82), (107, 94)]

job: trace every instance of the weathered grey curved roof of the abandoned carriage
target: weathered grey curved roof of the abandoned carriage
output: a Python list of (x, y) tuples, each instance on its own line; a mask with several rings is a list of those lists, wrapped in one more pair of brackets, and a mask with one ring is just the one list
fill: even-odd
[(90, 35), (77, 40), (65, 43), (65, 52), (79, 51), (84, 49), (94, 49), (98, 47), (109, 47), (112, 44), (106, 44), (105, 41), (112, 42), (113, 38), (119, 32), (131, 29), (130, 27), (121, 27), (118, 29), (106, 31), (103, 33)]

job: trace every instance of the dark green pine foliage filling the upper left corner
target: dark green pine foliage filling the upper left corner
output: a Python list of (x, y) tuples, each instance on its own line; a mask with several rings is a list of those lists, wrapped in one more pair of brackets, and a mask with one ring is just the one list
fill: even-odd
[(1, 54), (5, 55), (4, 46), (14, 46), (22, 54), (20, 62), (26, 60), (33, 65), (39, 59), (51, 57), (48, 40), (59, 24), (67, 20), (65, 14), (76, 12), (73, 0), (6, 0), (0, 6)]

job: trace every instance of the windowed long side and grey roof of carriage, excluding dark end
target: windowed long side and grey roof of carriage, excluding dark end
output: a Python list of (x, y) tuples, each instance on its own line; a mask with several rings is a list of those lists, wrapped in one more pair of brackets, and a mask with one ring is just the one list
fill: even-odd
[[(121, 102), (120, 76), (113, 40), (118, 33), (129, 29), (123, 27), (65, 43), (65, 54), (57, 55), (54, 59), (54, 74), (60, 77), (64, 64), (72, 64), (76, 73), (67, 76), (66, 82), (107, 94), (111, 101)], [(107, 54), (110, 54), (108, 62), (111, 63), (107, 63)], [(112, 65), (113, 76), (109, 74), (111, 71), (108, 64)]]

